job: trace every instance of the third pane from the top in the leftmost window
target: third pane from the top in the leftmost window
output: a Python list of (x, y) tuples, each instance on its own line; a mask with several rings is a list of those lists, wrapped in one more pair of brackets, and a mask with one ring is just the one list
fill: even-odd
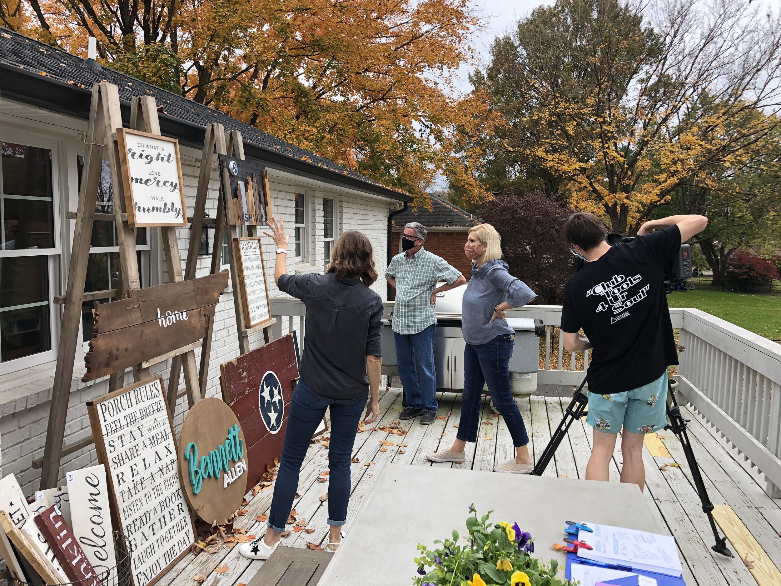
[(48, 256), (0, 259), (0, 308), (48, 302)]

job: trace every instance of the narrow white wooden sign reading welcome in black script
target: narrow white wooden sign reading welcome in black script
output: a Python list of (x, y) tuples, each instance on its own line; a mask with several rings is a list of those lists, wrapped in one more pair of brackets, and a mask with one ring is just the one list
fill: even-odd
[(116, 566), (105, 466), (73, 470), (66, 473), (65, 477), (73, 502), (70, 531), (90, 560), (95, 573), (101, 575)]

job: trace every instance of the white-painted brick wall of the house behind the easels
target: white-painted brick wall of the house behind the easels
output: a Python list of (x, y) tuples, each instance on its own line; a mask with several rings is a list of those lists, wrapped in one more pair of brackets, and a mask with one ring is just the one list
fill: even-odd
[[(191, 148), (182, 148), (183, 177), (187, 208), (191, 212), (194, 206), (195, 189), (198, 184), (198, 156), (199, 152)], [(274, 216), (283, 216), (288, 226), (293, 224), (294, 192), (306, 190), (308, 195), (308, 259), (311, 265), (322, 270), (323, 267), (323, 191), (324, 186), (298, 184), (293, 180), (269, 173), (272, 192), (272, 208)], [(218, 172), (216, 164), (212, 167), (212, 180), (209, 185), (209, 200), (207, 212), (210, 216), (216, 216), (216, 203), (218, 195)], [(328, 194), (335, 196), (334, 209), (337, 213), (336, 228), (339, 233), (344, 230), (361, 230), (369, 236), (374, 246), (378, 280), (373, 285), (383, 299), (386, 298), (386, 283), (383, 273), (387, 265), (387, 213), (388, 202), (373, 198), (361, 198), (356, 195), (341, 194), (337, 189), (328, 188)], [(69, 209), (63, 199), (62, 209)], [(64, 213), (64, 212), (63, 212)], [(162, 281), (166, 282), (167, 270), (165, 260), (155, 242), (159, 241), (159, 234), (152, 229), (152, 266), (160, 266)], [(240, 235), (243, 229), (240, 228)], [(289, 230), (290, 231), (290, 230)], [(210, 230), (210, 237), (213, 231)], [(190, 231), (180, 229), (177, 231), (177, 240), (182, 255), (182, 260), (187, 256)], [(269, 295), (280, 295), (280, 291), (273, 283), (273, 267), (276, 259), (275, 247), (270, 238), (263, 237), (264, 259), (266, 260), (266, 273), (269, 280)], [(69, 250), (70, 245), (63, 245), (63, 250)], [(66, 255), (63, 255), (66, 256)], [(156, 259), (156, 263), (155, 263)], [(209, 273), (211, 256), (203, 256), (198, 259), (198, 273), (201, 277)], [(67, 266), (67, 258), (62, 259), (62, 266)], [(296, 269), (289, 261), (287, 270)], [(301, 267), (298, 267), (301, 268)], [(309, 269), (311, 270), (311, 268)], [(152, 275), (153, 282), (155, 275)], [(209, 362), (209, 384), (206, 396), (220, 396), (219, 390), (219, 364), (238, 355), (237, 327), (234, 316), (233, 291), (229, 289), (219, 298), (215, 314), (214, 337), (212, 338), (212, 353)], [(298, 327), (298, 319), (294, 320), (293, 327)], [(287, 319), (283, 320), (282, 332), (287, 333)], [(250, 339), (251, 348), (257, 348), (262, 344), (262, 332), (253, 334)], [(200, 364), (200, 349), (196, 351), (196, 363)], [(77, 364), (80, 363), (77, 357)], [(152, 373), (162, 373), (163, 380), (168, 384), (169, 363), (162, 363), (152, 367)], [(77, 369), (78, 371), (78, 369)], [(70, 395), (70, 406), (66, 424), (65, 444), (86, 438), (91, 435), (89, 420), (85, 402), (105, 394), (108, 390), (108, 382), (104, 379), (95, 384), (83, 384), (77, 382), (80, 374), (74, 374), (73, 391)], [(33, 377), (34, 378), (34, 377)], [(130, 374), (127, 374), (130, 380)], [(25, 495), (30, 496), (38, 489), (40, 470), (33, 470), (30, 463), (33, 459), (43, 456), (48, 414), (52, 396), (52, 374), (42, 374), (37, 380), (26, 380), (23, 384), (11, 390), (0, 391), (0, 407), (2, 407), (2, 419), (0, 419), (0, 446), (2, 446), (2, 474), (14, 473), (20, 482)], [(2, 377), (0, 377), (2, 386)], [(180, 377), (180, 386), (184, 381)], [(29, 391), (29, 392), (27, 392)], [(5, 397), (4, 397), (5, 395)], [(174, 417), (175, 426), (180, 427), (187, 409), (187, 399), (181, 398), (177, 404), (177, 413)], [(76, 470), (83, 466), (90, 466), (97, 462), (95, 449), (84, 448), (62, 459), (60, 468), (60, 482), (64, 484), (66, 470)]]

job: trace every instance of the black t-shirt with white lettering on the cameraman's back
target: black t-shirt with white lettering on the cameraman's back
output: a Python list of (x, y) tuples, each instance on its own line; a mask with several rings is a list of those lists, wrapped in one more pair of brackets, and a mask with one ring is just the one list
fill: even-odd
[(638, 236), (586, 263), (567, 281), (562, 331), (582, 327), (594, 347), (590, 391), (630, 391), (678, 364), (664, 270), (680, 245), (677, 226)]

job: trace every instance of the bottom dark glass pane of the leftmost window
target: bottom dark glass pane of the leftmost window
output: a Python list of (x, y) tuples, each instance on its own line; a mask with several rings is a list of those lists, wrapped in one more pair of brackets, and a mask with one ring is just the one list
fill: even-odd
[(49, 306), (9, 309), (0, 313), (0, 356), (2, 362), (52, 349)]

